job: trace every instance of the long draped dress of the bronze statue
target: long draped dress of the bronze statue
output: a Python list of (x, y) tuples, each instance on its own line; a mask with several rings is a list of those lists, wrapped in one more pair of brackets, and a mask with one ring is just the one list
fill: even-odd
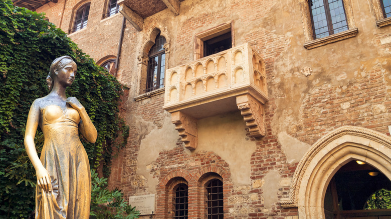
[(79, 112), (69, 106), (41, 108), (45, 136), (41, 162), (52, 179), (52, 192), (37, 186), (36, 218), (89, 218), (91, 174), (88, 156), (79, 139)]

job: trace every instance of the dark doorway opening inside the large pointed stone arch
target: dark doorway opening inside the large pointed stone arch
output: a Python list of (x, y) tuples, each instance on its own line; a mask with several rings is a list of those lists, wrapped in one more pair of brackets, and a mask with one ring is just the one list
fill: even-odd
[(389, 203), (384, 207), (376, 205), (375, 201), (368, 202), (376, 191), (385, 189), (391, 189), (391, 181), (383, 173), (365, 162), (352, 160), (338, 169), (327, 187), (324, 197), (325, 218), (390, 216), (391, 209), (377, 210), (391, 207), (389, 192), (383, 192), (377, 197), (379, 200), (388, 199)]

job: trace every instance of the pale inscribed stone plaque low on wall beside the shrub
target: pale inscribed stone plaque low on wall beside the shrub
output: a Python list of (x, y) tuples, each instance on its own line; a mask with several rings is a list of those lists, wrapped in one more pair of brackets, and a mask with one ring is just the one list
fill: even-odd
[(129, 204), (140, 211), (140, 215), (155, 214), (155, 194), (129, 196)]

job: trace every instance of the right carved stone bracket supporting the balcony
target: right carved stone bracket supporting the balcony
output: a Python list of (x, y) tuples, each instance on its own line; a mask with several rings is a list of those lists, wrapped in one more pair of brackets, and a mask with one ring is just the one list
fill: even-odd
[(249, 127), (250, 137), (265, 136), (264, 105), (249, 94), (237, 96), (236, 104)]

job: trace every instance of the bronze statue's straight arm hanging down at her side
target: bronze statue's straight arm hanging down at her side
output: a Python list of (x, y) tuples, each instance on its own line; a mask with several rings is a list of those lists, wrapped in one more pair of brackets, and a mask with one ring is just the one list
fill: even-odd
[(51, 180), (48, 170), (42, 165), (35, 148), (34, 137), (37, 132), (38, 123), (40, 120), (40, 106), (39, 101), (34, 100), (31, 104), (29, 116), (27, 117), (26, 133), (25, 133), (25, 147), (27, 155), (34, 165), (37, 174), (37, 184), (45, 191), (51, 191)]

